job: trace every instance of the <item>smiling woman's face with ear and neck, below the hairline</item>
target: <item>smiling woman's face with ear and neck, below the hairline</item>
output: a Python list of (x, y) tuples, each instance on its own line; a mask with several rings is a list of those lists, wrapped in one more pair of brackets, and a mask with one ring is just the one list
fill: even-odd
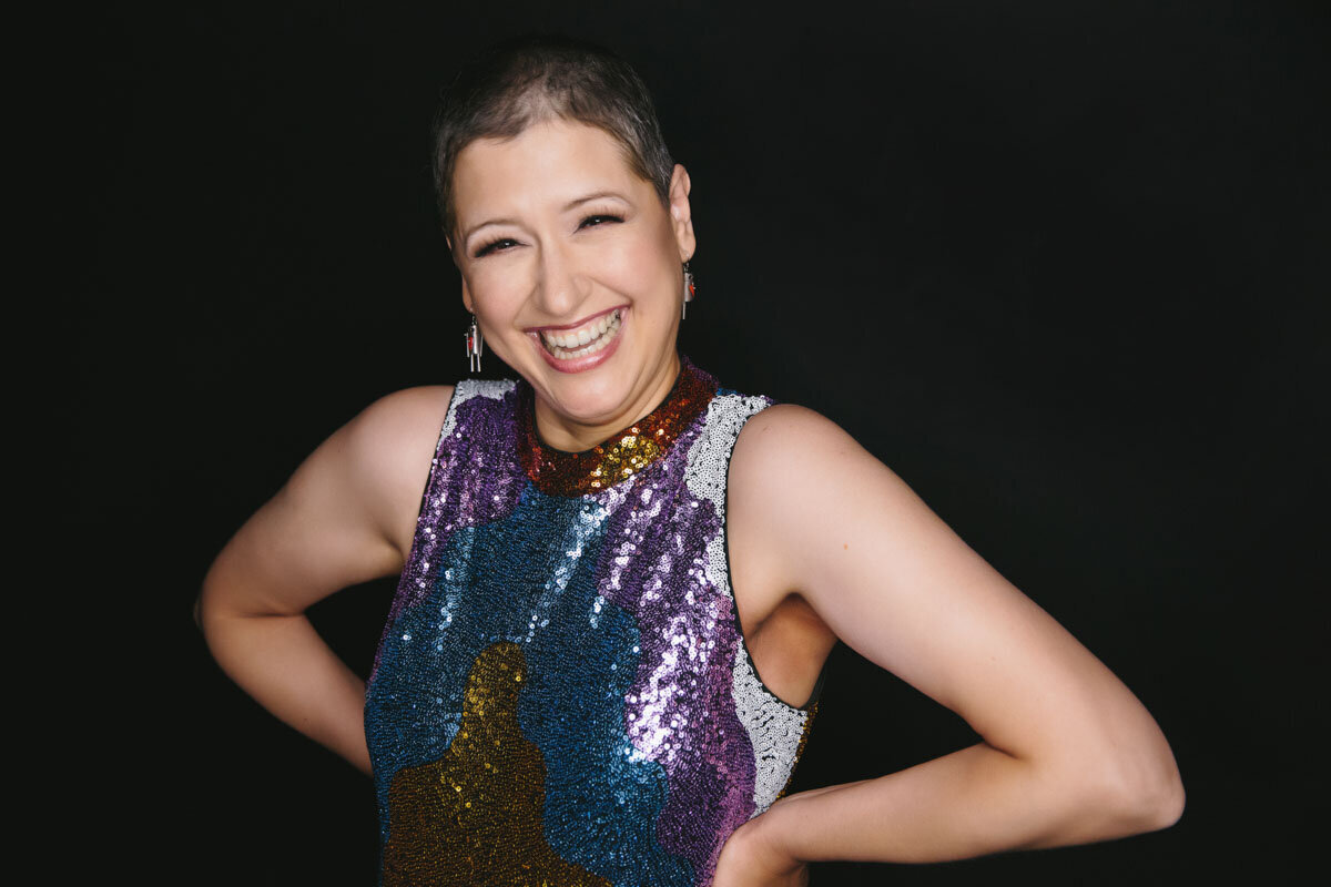
[(675, 166), (663, 206), (614, 138), (562, 118), (458, 154), (462, 299), (535, 390), (548, 444), (584, 449), (669, 391), (695, 246), (688, 188)]

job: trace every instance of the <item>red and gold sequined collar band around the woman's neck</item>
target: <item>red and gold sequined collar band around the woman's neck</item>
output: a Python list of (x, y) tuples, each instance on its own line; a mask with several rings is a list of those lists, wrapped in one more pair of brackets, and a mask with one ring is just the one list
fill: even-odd
[(716, 390), (716, 379), (680, 355), (675, 384), (655, 410), (590, 449), (568, 452), (540, 440), (535, 391), (522, 380), (516, 411), (522, 467), (538, 489), (560, 496), (596, 493), (624, 483), (669, 452), (679, 435), (707, 408)]

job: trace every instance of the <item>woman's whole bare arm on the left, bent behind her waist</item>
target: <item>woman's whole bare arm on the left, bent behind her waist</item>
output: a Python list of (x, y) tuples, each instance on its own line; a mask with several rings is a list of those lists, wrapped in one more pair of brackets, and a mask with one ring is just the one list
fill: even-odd
[(194, 606), (241, 689), (366, 774), (365, 681), (305, 610), (402, 570), (451, 396), (451, 386), (398, 391), (334, 432), (226, 543)]

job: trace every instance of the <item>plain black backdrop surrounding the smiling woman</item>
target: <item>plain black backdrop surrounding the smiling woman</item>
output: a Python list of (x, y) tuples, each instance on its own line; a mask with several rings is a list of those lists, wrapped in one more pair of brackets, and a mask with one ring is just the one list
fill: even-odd
[[(1174, 828), (815, 884), (1283, 880), (1316, 851), (1328, 582), (1324, 4), (228, 4), (80, 19), (61, 399), (114, 465), (122, 674), (98, 822), (177, 883), (373, 883), (370, 782), (264, 713), (190, 606), (375, 398), (466, 372), (429, 126), (461, 56), (544, 28), (648, 81), (692, 176), (681, 350), (890, 465), (1139, 696)], [(84, 262), (87, 262), (84, 265)], [(484, 374), (503, 367), (487, 356)], [(84, 471), (71, 496), (85, 495)], [(81, 519), (85, 515), (75, 515)], [(367, 673), (393, 581), (311, 618)], [(110, 593), (110, 592), (104, 592)], [(973, 741), (833, 654), (796, 789)], [(114, 739), (113, 739), (114, 745)], [(146, 805), (146, 807), (145, 807)], [(140, 863), (141, 864), (141, 863)]]

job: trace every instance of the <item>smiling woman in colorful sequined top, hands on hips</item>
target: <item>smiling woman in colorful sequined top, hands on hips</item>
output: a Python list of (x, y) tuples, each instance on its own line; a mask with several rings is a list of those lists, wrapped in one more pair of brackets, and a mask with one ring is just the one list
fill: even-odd
[[(1178, 819), (1094, 656), (837, 426), (677, 354), (689, 177), (624, 63), (502, 47), (437, 136), (469, 358), (522, 382), (371, 404), (198, 606), (242, 688), (374, 777), (383, 883), (787, 884)], [(395, 573), (366, 684), (302, 613)], [(781, 797), (837, 640), (984, 741)]]

